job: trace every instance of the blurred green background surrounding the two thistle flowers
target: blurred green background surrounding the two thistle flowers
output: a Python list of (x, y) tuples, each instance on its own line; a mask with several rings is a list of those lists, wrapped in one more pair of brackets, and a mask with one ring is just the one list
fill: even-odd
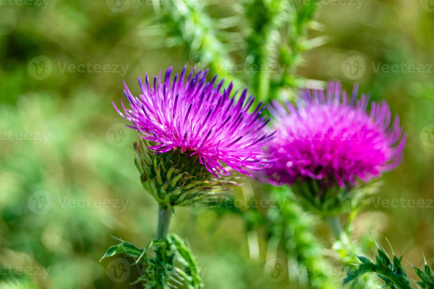
[[(184, 2), (194, 6), (190, 18), (178, 17), (186, 15), (181, 0), (0, 0), (0, 288), (140, 288), (128, 284), (135, 268), (124, 280), (113, 276), (112, 259), (99, 263), (116, 243), (110, 235), (145, 246), (157, 224), (133, 164), (136, 136), (111, 102), (119, 103), (123, 80), (137, 94), (138, 75), (196, 62), (263, 100), (322, 83), (309, 79), (340, 80), (348, 90), (356, 81), (372, 100), (387, 100), (408, 140), (378, 198), (425, 205), (368, 205), (355, 236), (387, 237), (415, 266), (422, 253), (434, 258), (433, 1)], [(268, 33), (265, 23), (283, 29)], [(318, 43), (297, 46), (304, 38)], [(290, 43), (292, 58), (285, 79), (273, 82), (251, 65), (256, 55), (282, 63), (285, 47), (276, 43)], [(222, 68), (227, 61), (247, 68)], [(237, 194), (248, 198), (246, 191)], [(312, 227), (330, 248), (327, 227)], [(266, 238), (259, 233), (252, 258), (237, 214), (178, 208), (170, 231), (197, 255), (206, 288), (303, 288), (287, 276), (267, 278)]]

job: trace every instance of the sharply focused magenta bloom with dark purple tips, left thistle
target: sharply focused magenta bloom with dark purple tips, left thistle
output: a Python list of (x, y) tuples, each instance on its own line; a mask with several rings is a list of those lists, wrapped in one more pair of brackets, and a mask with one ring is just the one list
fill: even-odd
[(149, 146), (155, 153), (167, 153), (181, 149), (190, 156), (197, 154), (199, 161), (214, 176), (229, 175), (224, 164), (240, 173), (250, 175), (247, 170), (268, 166), (263, 147), (271, 137), (263, 131), (270, 120), (260, 117), (262, 102), (248, 112), (254, 97), (247, 97), (245, 89), (238, 101), (237, 92), (230, 97), (233, 84), (220, 93), (223, 81), (215, 84), (217, 75), (206, 82), (207, 71), (194, 69), (184, 81), (186, 67), (171, 80), (172, 68), (168, 68), (161, 82), (160, 74), (154, 77), (153, 87), (149, 85), (148, 74), (145, 83), (139, 78), (141, 94), (134, 97), (125, 82), (125, 96), (130, 107), (122, 107), (122, 114), (115, 109), (131, 127), (139, 130), (143, 138), (155, 143)]

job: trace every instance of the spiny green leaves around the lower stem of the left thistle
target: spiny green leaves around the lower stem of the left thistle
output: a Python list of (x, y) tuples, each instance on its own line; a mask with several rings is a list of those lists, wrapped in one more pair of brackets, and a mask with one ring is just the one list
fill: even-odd
[(132, 285), (141, 283), (145, 289), (204, 288), (194, 255), (177, 235), (154, 240), (144, 249), (116, 240), (120, 243), (110, 247), (101, 260), (116, 254), (132, 258), (132, 266), (138, 266), (141, 273)]

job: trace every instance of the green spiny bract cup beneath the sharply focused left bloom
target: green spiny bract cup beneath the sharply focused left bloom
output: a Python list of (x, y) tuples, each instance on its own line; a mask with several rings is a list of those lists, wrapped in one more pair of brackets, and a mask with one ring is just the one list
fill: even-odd
[(199, 162), (197, 155), (176, 149), (168, 153), (152, 153), (149, 143), (139, 138), (134, 143), (135, 164), (141, 182), (155, 200), (174, 211), (175, 206), (194, 204), (215, 205), (230, 195), (238, 184), (229, 179), (217, 179)]

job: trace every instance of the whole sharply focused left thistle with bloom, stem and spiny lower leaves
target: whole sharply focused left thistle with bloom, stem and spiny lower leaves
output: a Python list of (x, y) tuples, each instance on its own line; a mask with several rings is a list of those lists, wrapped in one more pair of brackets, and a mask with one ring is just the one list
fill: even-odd
[[(149, 84), (148, 75), (144, 83), (139, 78), (139, 97), (133, 96), (125, 85), (129, 108), (121, 101), (124, 110), (121, 112), (113, 104), (118, 113), (131, 122), (128, 127), (139, 133), (134, 145), (135, 165), (145, 190), (158, 203), (157, 238), (149, 245), (156, 247), (156, 257), (153, 260), (146, 257), (143, 261), (149, 268), (152, 268), (151, 262), (168, 270), (163, 270), (158, 278), (155, 273), (142, 276), (141, 282), (150, 288), (174, 286), (173, 275), (177, 270), (174, 257), (176, 252), (181, 255), (187, 252), (179, 239), (177, 245), (172, 246), (173, 237), (167, 237), (174, 208), (197, 203), (212, 205), (227, 194), (225, 191), (237, 185), (226, 179), (230, 176), (229, 169), (251, 176), (251, 171), (270, 164), (262, 148), (273, 133), (263, 129), (269, 120), (260, 117), (263, 110), (260, 104), (249, 112), (254, 97), (247, 97), (247, 90), (244, 90), (235, 101), (235, 97), (231, 97), (232, 83), (221, 93), (223, 81), (216, 84), (217, 76), (206, 82), (207, 71), (193, 69), (187, 76), (186, 69), (184, 67), (173, 79), (172, 68), (166, 71), (164, 80), (160, 72), (153, 86)], [(161, 243), (161, 240), (165, 241)], [(112, 247), (108, 255), (116, 248), (122, 251), (125, 244)], [(146, 251), (145, 248), (142, 255)], [(194, 261), (191, 253), (187, 259)], [(196, 280), (196, 276), (191, 277)], [(194, 288), (202, 287), (201, 282), (193, 283)]]

